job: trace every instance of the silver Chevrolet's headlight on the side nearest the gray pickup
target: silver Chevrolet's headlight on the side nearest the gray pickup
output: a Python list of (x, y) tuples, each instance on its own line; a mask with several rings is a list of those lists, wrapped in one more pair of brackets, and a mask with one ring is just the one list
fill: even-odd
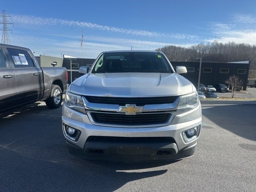
[(75, 111), (86, 114), (82, 96), (80, 95), (70, 93), (67, 91), (65, 96), (65, 104), (66, 106), (72, 108)]

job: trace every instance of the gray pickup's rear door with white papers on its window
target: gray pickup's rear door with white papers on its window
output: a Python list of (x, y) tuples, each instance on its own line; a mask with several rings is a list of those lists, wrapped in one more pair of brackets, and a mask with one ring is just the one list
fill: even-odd
[(32, 61), (27, 50), (7, 50), (13, 65), (19, 104), (36, 102), (42, 94), (42, 70)]

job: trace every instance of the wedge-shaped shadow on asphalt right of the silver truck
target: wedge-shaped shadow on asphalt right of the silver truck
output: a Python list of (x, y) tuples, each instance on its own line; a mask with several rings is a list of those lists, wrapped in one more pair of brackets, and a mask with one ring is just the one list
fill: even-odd
[[(206, 106), (205, 104), (205, 106), (202, 106), (202, 116), (238, 136), (256, 141), (254, 121), (256, 119), (255, 105)], [(204, 124), (204, 120), (202, 120), (202, 122), (202, 128), (212, 128), (212, 126), (214, 126)]]

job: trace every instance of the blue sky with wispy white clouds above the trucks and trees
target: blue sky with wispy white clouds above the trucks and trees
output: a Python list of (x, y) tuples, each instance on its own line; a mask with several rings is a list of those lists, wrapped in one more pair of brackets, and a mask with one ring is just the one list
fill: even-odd
[(255, 0), (12, 0), (1, 8), (14, 23), (8, 26), (11, 44), (49, 56), (82, 57), (82, 31), (86, 58), (131, 46), (256, 44)]

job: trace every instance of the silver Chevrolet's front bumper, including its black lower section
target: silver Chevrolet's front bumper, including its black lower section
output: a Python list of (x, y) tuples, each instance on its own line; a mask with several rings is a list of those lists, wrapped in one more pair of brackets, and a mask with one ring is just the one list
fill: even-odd
[[(80, 131), (76, 142), (68, 139), (65, 134), (68, 153), (84, 158), (144, 162), (158, 160), (177, 160), (192, 156), (196, 149), (196, 140), (200, 135), (201, 106), (173, 118), (168, 126), (120, 128), (91, 124), (86, 114), (81, 114), (63, 105), (62, 124)], [(72, 118), (72, 119), (71, 119)], [(191, 142), (184, 142), (182, 132), (198, 127), (198, 137)], [(90, 136), (117, 138), (151, 138), (168, 137), (168, 142), (124, 142), (122, 141), (91, 141)]]

